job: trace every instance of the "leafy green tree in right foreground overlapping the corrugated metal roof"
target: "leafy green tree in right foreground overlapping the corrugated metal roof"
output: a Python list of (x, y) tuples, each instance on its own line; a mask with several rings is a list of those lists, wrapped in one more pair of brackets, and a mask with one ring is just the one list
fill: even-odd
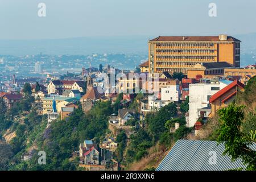
[(254, 142), (247, 137), (248, 134), (241, 132), (244, 119), (244, 106), (231, 104), (218, 111), (220, 122), (220, 135), (218, 143), (224, 143), (224, 154), (232, 157), (232, 160), (242, 159), (247, 164), (247, 170), (256, 170), (256, 152), (249, 147)]

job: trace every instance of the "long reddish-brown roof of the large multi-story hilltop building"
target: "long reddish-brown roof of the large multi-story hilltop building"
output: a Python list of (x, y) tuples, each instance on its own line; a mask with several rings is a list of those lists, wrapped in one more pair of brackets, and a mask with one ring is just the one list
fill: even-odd
[[(184, 40), (183, 40), (184, 38)], [(170, 41), (170, 42), (197, 42), (197, 41), (210, 41), (210, 42), (219, 42), (220, 39), (218, 36), (158, 36), (155, 39), (150, 40), (150, 42), (158, 42), (158, 41)], [(233, 38), (232, 36), (228, 36), (227, 40), (221, 40), (221, 42), (231, 41), (231, 42), (241, 42), (240, 40)]]

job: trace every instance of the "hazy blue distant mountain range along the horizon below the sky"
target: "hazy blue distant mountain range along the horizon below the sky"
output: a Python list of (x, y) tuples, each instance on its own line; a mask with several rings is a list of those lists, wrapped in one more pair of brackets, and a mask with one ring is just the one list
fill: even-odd
[[(157, 36), (157, 35), (156, 35)], [(0, 40), (0, 55), (90, 55), (92, 53), (135, 53), (147, 55), (148, 39), (156, 36), (84, 37), (43, 40)], [(242, 65), (253, 64), (256, 33), (231, 35), (242, 41)]]

